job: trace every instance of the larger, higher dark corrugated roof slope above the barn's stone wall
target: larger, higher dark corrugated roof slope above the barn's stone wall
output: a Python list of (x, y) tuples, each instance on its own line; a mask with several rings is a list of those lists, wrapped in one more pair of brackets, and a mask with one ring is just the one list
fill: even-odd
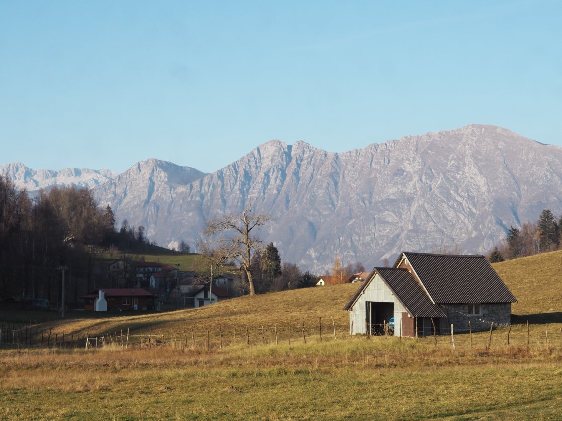
[(517, 302), (484, 256), (404, 255), (436, 304)]

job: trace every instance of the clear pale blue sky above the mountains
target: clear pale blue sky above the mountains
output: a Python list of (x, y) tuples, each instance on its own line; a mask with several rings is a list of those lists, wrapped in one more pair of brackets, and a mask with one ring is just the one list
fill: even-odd
[(212, 172), (492, 124), (562, 145), (562, 3), (0, 2), (0, 164)]

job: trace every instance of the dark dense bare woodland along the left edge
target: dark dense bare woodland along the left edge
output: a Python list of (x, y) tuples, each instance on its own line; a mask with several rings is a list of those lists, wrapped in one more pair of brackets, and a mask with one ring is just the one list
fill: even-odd
[(53, 187), (30, 197), (0, 177), (0, 297), (47, 299), (60, 306), (61, 271), (67, 303), (96, 287), (99, 251), (146, 248), (144, 227), (124, 221), (115, 229), (111, 207), (98, 206), (92, 193)]

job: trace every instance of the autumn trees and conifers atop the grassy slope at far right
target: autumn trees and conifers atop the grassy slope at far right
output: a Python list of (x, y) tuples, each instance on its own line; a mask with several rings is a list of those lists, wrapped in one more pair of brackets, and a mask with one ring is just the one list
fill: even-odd
[(510, 226), (502, 244), (488, 256), (491, 263), (528, 257), (557, 250), (562, 240), (562, 216), (558, 221), (550, 209), (543, 209), (536, 222), (524, 222), (521, 228)]

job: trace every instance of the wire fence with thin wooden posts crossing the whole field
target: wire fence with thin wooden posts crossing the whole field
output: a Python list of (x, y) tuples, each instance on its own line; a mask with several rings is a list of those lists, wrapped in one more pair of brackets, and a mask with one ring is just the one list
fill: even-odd
[[(516, 336), (512, 335), (514, 325), (493, 330), (489, 333), (465, 332), (459, 334), (451, 325), (450, 332), (439, 332), (434, 328), (420, 327), (411, 337), (403, 337), (399, 331), (389, 323), (371, 325), (370, 335), (352, 335), (356, 338), (372, 337), (402, 338), (422, 341), (433, 341), (435, 345), (449, 342), (453, 349), (456, 347), (473, 346), (519, 346), (536, 349), (537, 347), (562, 347), (562, 327), (544, 326), (544, 330), (527, 323), (526, 328), (518, 325)], [(396, 336), (395, 336), (396, 335)], [(456, 336), (455, 336), (456, 335)], [(210, 325), (184, 326), (175, 332), (132, 332), (130, 328), (119, 328), (103, 333), (72, 332), (46, 330), (39, 324), (16, 324), (0, 322), (0, 346), (10, 348), (57, 348), (57, 349), (101, 349), (104, 347), (121, 347), (124, 349), (151, 349), (152, 347), (173, 347), (174, 349), (192, 349), (211, 351), (234, 345), (258, 346), (280, 344), (309, 344), (311, 342), (328, 342), (348, 340), (350, 326), (337, 324), (332, 317), (319, 318), (314, 321), (302, 319), (301, 322), (279, 324), (238, 324), (238, 325)], [(460, 340), (459, 340), (460, 339)]]

